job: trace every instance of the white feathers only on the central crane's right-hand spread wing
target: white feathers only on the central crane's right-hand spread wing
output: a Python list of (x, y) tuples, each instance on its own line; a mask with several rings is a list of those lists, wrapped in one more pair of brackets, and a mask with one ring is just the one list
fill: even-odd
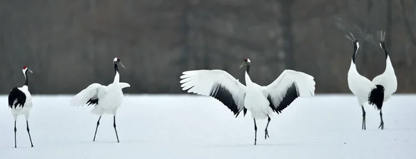
[(315, 95), (315, 81), (313, 80), (313, 76), (293, 70), (283, 71), (274, 82), (268, 86), (262, 86), (263, 94), (266, 97), (270, 95), (272, 104), (279, 106), (280, 102), (284, 100), (283, 98), (288, 88), (293, 86), (293, 84), (295, 84), (300, 97), (313, 97)]

